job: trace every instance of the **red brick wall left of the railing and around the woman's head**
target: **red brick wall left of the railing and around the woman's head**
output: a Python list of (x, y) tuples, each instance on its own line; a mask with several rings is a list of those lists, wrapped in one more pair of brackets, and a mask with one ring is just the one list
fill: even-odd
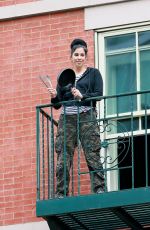
[(75, 37), (88, 42), (93, 65), (93, 31), (84, 31), (82, 10), (0, 22), (0, 226), (37, 220), (35, 107), (49, 102), (38, 76), (56, 84)]

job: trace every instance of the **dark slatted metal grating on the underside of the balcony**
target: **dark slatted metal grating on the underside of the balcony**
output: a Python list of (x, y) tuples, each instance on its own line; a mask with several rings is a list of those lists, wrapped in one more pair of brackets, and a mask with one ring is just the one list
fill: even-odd
[[(150, 225), (150, 204), (123, 206), (121, 208), (139, 223), (142, 228)], [(56, 215), (56, 218), (66, 226), (66, 229), (71, 230), (131, 229), (131, 226), (127, 224), (128, 221), (121, 220), (113, 212), (113, 209), (72, 212)]]

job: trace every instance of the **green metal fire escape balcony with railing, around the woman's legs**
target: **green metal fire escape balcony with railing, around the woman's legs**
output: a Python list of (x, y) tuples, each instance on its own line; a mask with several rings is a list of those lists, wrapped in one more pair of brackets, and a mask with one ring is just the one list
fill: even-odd
[[(89, 172), (78, 142), (70, 172), (70, 194), (61, 199), (55, 197), (58, 116), (51, 104), (36, 107), (36, 214), (47, 221), (51, 230), (139, 230), (150, 226), (149, 94), (144, 91), (97, 98), (100, 154), (107, 188), (100, 194), (90, 190)], [(144, 103), (136, 108), (134, 102), (139, 96)], [(120, 112), (124, 98), (128, 98), (128, 111)], [(110, 103), (114, 111), (109, 111)], [(92, 119), (89, 122), (92, 129)]]

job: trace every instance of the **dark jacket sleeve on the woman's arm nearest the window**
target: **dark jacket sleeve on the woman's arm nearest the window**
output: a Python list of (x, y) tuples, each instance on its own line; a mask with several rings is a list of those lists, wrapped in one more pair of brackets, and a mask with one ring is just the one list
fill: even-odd
[(89, 97), (99, 97), (103, 96), (103, 79), (101, 73), (98, 69), (93, 68), (90, 74), (89, 90), (83, 95), (83, 99)]

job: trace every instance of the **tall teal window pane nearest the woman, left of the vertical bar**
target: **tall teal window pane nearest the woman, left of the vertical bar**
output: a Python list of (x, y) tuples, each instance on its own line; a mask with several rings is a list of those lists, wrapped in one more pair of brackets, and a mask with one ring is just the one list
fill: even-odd
[[(106, 57), (106, 95), (136, 91), (135, 53)], [(123, 113), (136, 110), (136, 96), (119, 97), (107, 101), (107, 113)]]

